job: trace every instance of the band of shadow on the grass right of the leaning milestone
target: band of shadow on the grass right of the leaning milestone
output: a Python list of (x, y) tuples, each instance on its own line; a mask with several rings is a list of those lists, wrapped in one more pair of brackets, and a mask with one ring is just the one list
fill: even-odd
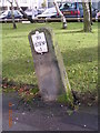
[(93, 62), (98, 60), (98, 47), (68, 50), (62, 52), (62, 58), (64, 65)]

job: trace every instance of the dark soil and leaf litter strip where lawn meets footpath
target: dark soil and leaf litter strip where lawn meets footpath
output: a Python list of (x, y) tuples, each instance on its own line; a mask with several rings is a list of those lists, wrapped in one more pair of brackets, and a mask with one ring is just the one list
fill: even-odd
[[(24, 84), (20, 83), (18, 84), (17, 82), (13, 81), (8, 81), (8, 79), (2, 80), (2, 91), (3, 92), (12, 92), (12, 91), (19, 91), (20, 89), (28, 91), (30, 89), (38, 89), (37, 84)], [(74, 101), (77, 101), (79, 104), (86, 104), (86, 105), (97, 105), (98, 104), (98, 94), (97, 93), (91, 93), (91, 92), (77, 92), (72, 91)], [(38, 98), (40, 96), (39, 94), (39, 89), (38, 89)]]

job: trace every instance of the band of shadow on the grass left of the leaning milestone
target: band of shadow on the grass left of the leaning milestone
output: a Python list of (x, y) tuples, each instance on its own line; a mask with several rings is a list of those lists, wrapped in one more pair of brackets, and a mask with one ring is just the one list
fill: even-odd
[[(34, 66), (32, 62), (32, 58), (18, 58), (13, 61), (10, 59), (6, 62), (2, 63), (2, 76), (12, 79), (18, 79), (17, 81), (21, 81), (26, 78), (28, 79), (27, 81), (29, 82), (29, 79), (33, 80), (34, 75)], [(20, 82), (19, 82), (20, 83)]]

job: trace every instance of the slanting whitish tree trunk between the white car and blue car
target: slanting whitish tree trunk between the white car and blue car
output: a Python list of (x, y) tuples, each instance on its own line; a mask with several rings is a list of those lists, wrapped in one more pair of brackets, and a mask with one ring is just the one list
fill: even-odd
[(66, 29), (66, 28), (67, 28), (67, 20), (66, 20), (66, 18), (64, 18), (64, 16), (62, 14), (62, 12), (60, 11), (60, 9), (59, 9), (59, 7), (58, 7), (58, 3), (54, 1), (53, 4), (54, 4), (54, 7), (56, 7), (57, 12), (58, 12), (59, 16), (61, 17), (62, 28)]

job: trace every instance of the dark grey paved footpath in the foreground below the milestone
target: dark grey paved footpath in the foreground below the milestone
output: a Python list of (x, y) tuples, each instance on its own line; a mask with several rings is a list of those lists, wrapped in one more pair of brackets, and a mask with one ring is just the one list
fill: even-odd
[[(3, 131), (97, 131), (97, 106), (80, 106), (71, 115), (69, 109), (61, 104), (43, 103), (34, 100), (32, 109), (20, 105), (17, 93), (3, 94)], [(9, 127), (9, 102), (12, 103), (12, 126)], [(24, 109), (23, 109), (24, 108)], [(69, 114), (68, 114), (69, 111)]]

